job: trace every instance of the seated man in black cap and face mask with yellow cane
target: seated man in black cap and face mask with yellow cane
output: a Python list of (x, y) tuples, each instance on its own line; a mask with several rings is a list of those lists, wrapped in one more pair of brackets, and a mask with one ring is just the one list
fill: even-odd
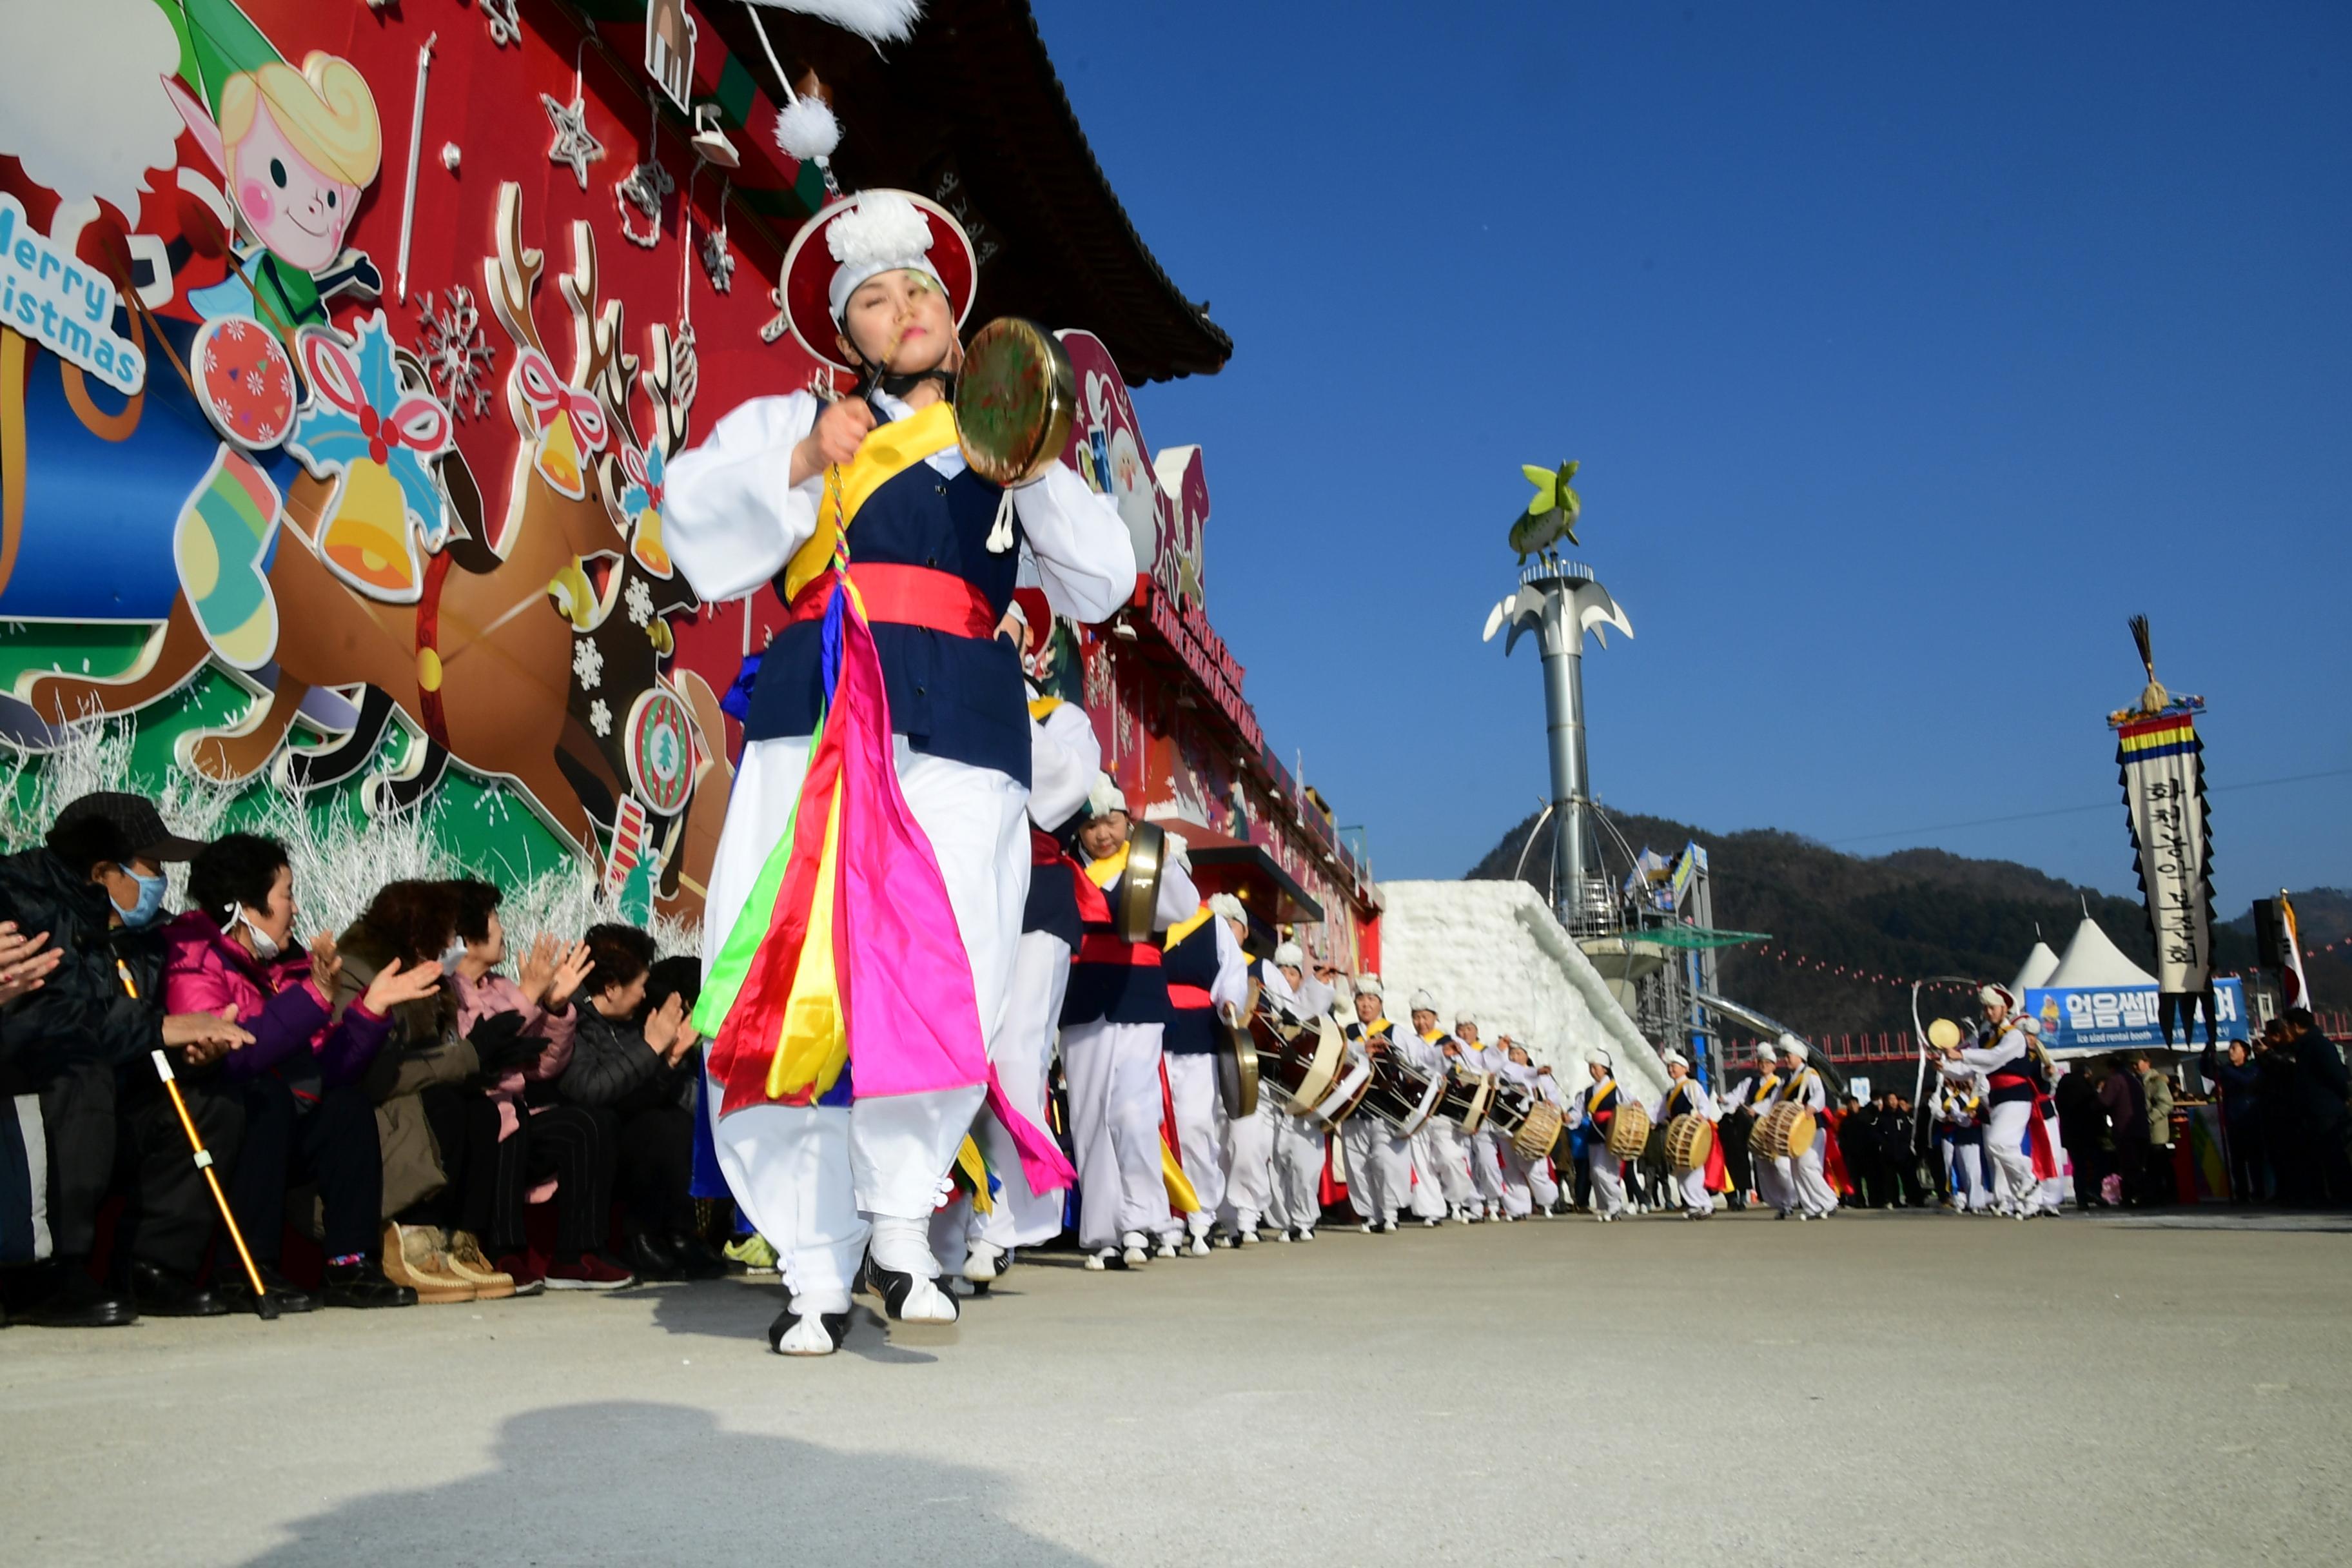
[[(212, 1194), (148, 1060), (158, 1048), (174, 1056), (205, 1147), (223, 1171), (235, 1164), (245, 1117), (205, 1070), (252, 1037), (209, 1013), (162, 1011), (162, 865), (198, 849), (165, 827), (153, 802), (108, 790), (66, 806), (42, 849), (0, 858), (0, 919), (47, 933), (59, 954), (42, 985), (0, 1016), (0, 1086), (40, 1095), (54, 1251), (45, 1291), (12, 1321), (106, 1328), (139, 1309), (226, 1312), (195, 1284)], [(87, 1267), (118, 1152), (136, 1175), (108, 1288)]]

